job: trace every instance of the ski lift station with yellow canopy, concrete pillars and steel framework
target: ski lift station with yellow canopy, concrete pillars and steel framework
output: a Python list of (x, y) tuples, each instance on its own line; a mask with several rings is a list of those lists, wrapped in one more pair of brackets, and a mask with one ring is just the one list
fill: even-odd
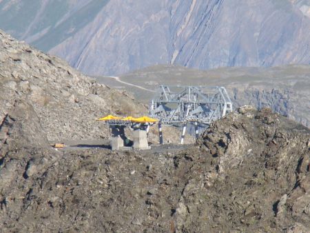
[(184, 143), (187, 128), (194, 129), (194, 136), (205, 130), (212, 121), (232, 112), (232, 103), (223, 87), (167, 86), (158, 88), (154, 99), (149, 103), (149, 116), (114, 117), (109, 115), (104, 121), (110, 127), (112, 150), (125, 148), (125, 128), (133, 130), (132, 147), (138, 150), (149, 149), (147, 135), (149, 128), (158, 125), (159, 143), (163, 144), (163, 125), (180, 127), (180, 144)]

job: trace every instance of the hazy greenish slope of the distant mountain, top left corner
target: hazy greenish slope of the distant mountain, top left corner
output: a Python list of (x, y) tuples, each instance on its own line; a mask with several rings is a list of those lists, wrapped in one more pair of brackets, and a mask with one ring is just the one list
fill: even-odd
[(0, 0), (0, 28), (47, 52), (94, 20), (108, 0)]

